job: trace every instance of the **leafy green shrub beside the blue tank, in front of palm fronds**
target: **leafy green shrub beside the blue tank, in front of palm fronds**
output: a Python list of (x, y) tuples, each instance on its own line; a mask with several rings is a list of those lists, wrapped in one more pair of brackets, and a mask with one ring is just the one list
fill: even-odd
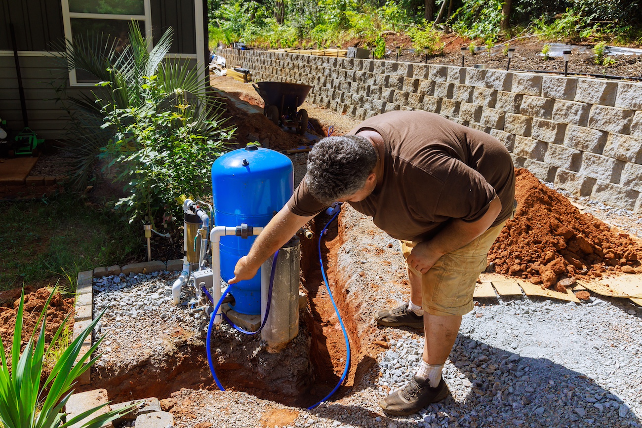
[[(116, 207), (128, 213), (130, 223), (143, 216), (153, 221), (179, 194), (204, 199), (211, 190), (211, 166), (231, 137), (215, 106), (197, 106), (182, 90), (166, 92), (157, 76), (147, 80), (141, 88), (144, 105), (103, 109), (103, 127), (114, 137), (101, 157), (109, 166), (121, 166), (116, 181), (125, 185), (127, 196)], [(168, 104), (172, 110), (166, 110)], [(178, 208), (174, 214), (180, 216)]]

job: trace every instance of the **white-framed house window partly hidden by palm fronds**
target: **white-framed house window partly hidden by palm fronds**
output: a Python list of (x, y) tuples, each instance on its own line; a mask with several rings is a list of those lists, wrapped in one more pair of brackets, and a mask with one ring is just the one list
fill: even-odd
[[(61, 0), (65, 38), (76, 35), (105, 33), (117, 44), (128, 44), (129, 23), (134, 20), (141, 33), (152, 37), (150, 0)], [(93, 86), (97, 78), (91, 73), (72, 70), (69, 83), (73, 86)]]

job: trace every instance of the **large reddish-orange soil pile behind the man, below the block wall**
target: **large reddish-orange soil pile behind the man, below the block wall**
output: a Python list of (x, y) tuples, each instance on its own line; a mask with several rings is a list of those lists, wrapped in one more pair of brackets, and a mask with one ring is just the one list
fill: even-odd
[(639, 271), (642, 246), (582, 214), (526, 169), (516, 171), (517, 212), (489, 252), (498, 273), (566, 291), (575, 277)]

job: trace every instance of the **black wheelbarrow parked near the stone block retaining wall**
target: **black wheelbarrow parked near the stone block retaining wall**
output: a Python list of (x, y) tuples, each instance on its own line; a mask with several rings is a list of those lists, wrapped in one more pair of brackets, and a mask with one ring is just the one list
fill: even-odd
[(252, 84), (259, 93), (265, 107), (263, 114), (275, 125), (295, 128), (297, 133), (304, 134), (308, 129), (308, 112), (297, 108), (306, 100), (310, 85), (286, 83), (282, 81), (259, 81)]

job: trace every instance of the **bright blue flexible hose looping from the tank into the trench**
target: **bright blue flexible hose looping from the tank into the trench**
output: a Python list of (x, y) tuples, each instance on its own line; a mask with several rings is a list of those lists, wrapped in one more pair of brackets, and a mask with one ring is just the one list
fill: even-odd
[[(334, 212), (334, 215), (332, 216), (332, 218), (325, 224), (325, 227), (323, 228), (323, 230), (321, 231), (321, 234), (319, 235), (317, 248), (318, 248), (318, 256), (319, 256), (319, 264), (320, 264), (320, 267), (321, 267), (321, 275), (322, 275), (324, 283), (325, 283), (325, 288), (327, 289), (327, 294), (330, 296), (330, 301), (332, 302), (332, 305), (334, 307), (334, 311), (336, 312), (336, 316), (339, 319), (339, 324), (341, 325), (341, 329), (343, 331), (343, 339), (345, 340), (345, 350), (346, 350), (345, 368), (343, 369), (343, 374), (341, 375), (341, 379), (339, 379), (339, 382), (336, 384), (336, 386), (334, 386), (334, 389), (332, 391), (330, 391), (330, 393), (328, 395), (326, 395), (324, 398), (322, 398), (322, 400), (320, 400), (317, 403), (313, 404), (312, 406), (308, 407), (308, 410), (314, 409), (319, 404), (321, 404), (325, 400), (327, 400), (330, 397), (332, 397), (334, 395), (334, 393), (336, 392), (336, 390), (339, 389), (339, 387), (345, 381), (345, 377), (347, 376), (348, 370), (350, 368), (350, 341), (348, 339), (348, 332), (347, 332), (347, 330), (345, 330), (345, 325), (343, 325), (343, 320), (341, 318), (341, 315), (339, 314), (339, 309), (338, 309), (338, 307), (336, 307), (336, 302), (334, 302), (332, 291), (330, 290), (330, 284), (327, 282), (327, 276), (325, 275), (325, 269), (323, 267), (323, 259), (321, 257), (321, 239), (324, 237), (324, 235), (325, 235), (325, 233), (327, 231), (327, 227), (339, 215), (339, 212), (340, 212), (340, 207), (338, 207), (338, 209), (336, 209), (336, 211)], [(278, 252), (275, 253), (275, 255), (274, 255), (274, 261), (272, 263), (272, 266), (275, 266), (275, 264), (276, 264), (277, 255), (278, 255)], [(239, 330), (241, 332), (245, 332), (247, 334), (256, 334), (259, 331), (261, 331), (261, 329), (263, 329), (263, 325), (265, 325), (265, 320), (267, 319), (268, 313), (270, 311), (270, 300), (272, 300), (271, 297), (272, 297), (273, 280), (274, 280), (274, 269), (272, 269), (272, 273), (270, 275), (270, 287), (269, 287), (269, 291), (268, 291), (268, 306), (266, 308), (265, 319), (263, 320), (263, 323), (261, 323), (261, 327), (259, 328), (259, 330), (257, 330), (256, 332), (245, 332), (244, 330), (239, 329), (238, 327), (236, 327), (236, 326), (234, 326), (232, 324), (232, 326), (234, 328), (236, 328), (237, 330)], [(216, 312), (218, 312), (218, 309), (221, 307), (221, 304), (223, 303), (223, 299), (225, 298), (225, 296), (227, 296), (227, 293), (229, 293), (229, 291), (230, 291), (230, 286), (228, 286), (225, 289), (225, 291), (223, 292), (223, 295), (221, 295), (220, 300), (216, 304), (216, 307), (214, 307), (214, 311), (212, 312), (212, 315), (211, 315), (211, 317), (209, 319), (209, 327), (207, 327), (207, 342), (206, 342), (206, 346), (207, 346), (207, 362), (209, 363), (209, 369), (212, 372), (212, 376), (214, 377), (214, 382), (216, 382), (216, 386), (218, 386), (218, 388), (221, 391), (225, 391), (225, 388), (223, 388), (223, 385), (218, 380), (218, 377), (216, 377), (216, 372), (214, 371), (214, 363), (212, 361), (212, 350), (211, 350), (212, 349), (212, 346), (211, 346), (212, 341), (211, 341), (211, 339), (212, 339), (212, 329), (214, 327), (214, 317), (216, 316)], [(209, 293), (207, 293), (207, 290), (205, 290), (205, 293), (207, 294), (209, 299), (212, 300), (212, 296), (209, 295)], [(227, 316), (225, 317), (225, 319), (228, 322), (230, 322), (227, 319)], [(231, 324), (231, 322), (230, 322), (230, 324)]]

